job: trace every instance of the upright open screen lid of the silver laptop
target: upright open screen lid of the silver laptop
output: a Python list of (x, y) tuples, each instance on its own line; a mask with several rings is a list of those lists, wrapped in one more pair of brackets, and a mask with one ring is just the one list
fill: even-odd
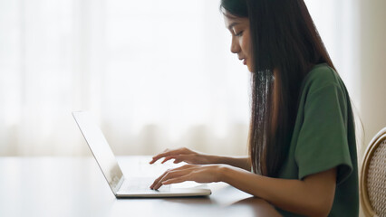
[(110, 184), (112, 192), (116, 193), (123, 174), (101, 129), (94, 122), (90, 113), (86, 111), (74, 111), (72, 116), (92, 150), (92, 155), (98, 162), (101, 172)]

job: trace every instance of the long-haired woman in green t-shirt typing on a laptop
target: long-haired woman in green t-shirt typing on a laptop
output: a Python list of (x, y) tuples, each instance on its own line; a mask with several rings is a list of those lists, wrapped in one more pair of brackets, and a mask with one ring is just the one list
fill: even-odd
[[(252, 72), (249, 156), (166, 150), (150, 164), (187, 162), (151, 189), (226, 182), (285, 216), (358, 216), (350, 98), (303, 0), (222, 0), (231, 52)], [(163, 163), (162, 162), (162, 163)]]

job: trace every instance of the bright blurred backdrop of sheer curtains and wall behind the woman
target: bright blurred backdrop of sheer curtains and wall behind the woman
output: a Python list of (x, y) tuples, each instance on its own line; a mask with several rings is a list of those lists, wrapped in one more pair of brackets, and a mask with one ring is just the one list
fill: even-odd
[[(362, 153), (386, 126), (386, 1), (305, 2), (362, 119)], [(218, 5), (0, 0), (0, 156), (91, 155), (73, 110), (92, 112), (116, 155), (246, 155), (250, 77)]]

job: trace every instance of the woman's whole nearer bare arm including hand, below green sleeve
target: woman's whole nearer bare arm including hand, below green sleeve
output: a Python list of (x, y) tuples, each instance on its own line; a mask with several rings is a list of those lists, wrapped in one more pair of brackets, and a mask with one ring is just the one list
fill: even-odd
[(183, 165), (160, 175), (150, 188), (159, 189), (162, 184), (185, 181), (225, 182), (282, 210), (306, 216), (326, 216), (333, 205), (336, 169), (308, 175), (304, 180), (291, 180), (256, 175), (229, 165)]

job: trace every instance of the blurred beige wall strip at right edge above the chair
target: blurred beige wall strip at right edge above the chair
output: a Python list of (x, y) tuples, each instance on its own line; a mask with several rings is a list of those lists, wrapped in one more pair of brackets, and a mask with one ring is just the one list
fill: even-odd
[[(361, 14), (361, 105), (364, 146), (386, 127), (386, 1), (362, 0)], [(364, 150), (362, 150), (363, 153)]]

